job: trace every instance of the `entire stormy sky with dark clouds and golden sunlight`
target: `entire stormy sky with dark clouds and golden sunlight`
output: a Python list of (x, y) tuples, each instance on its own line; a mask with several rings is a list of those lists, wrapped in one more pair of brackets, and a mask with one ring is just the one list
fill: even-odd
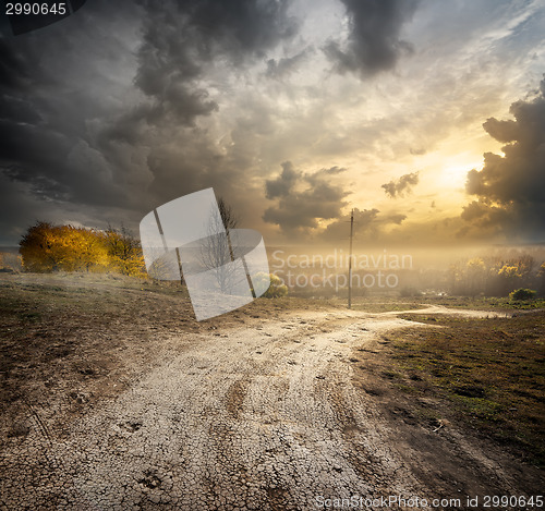
[(0, 245), (213, 186), (267, 243), (545, 241), (545, 2), (87, 0), (0, 37)]

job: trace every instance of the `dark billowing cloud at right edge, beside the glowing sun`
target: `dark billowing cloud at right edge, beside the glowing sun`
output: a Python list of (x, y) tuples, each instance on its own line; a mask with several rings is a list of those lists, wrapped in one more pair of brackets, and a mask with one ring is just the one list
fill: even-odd
[(517, 101), (514, 120), (491, 118), (486, 132), (508, 143), (505, 156), (486, 153), (484, 167), (468, 172), (465, 190), (475, 195), (464, 207), (467, 232), (501, 232), (511, 240), (543, 241), (545, 236), (545, 78), (533, 100)]

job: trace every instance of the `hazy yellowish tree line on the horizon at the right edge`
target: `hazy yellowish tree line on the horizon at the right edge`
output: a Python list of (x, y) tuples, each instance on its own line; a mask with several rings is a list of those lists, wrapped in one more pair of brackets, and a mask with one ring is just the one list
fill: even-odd
[(530, 255), (475, 257), (451, 265), (448, 281), (456, 295), (507, 296), (520, 288), (545, 294), (545, 261), (540, 264)]

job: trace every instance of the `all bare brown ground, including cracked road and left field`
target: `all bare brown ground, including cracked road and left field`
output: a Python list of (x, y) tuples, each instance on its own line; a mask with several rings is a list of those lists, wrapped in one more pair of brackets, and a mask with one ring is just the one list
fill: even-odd
[(258, 300), (196, 323), (179, 289), (106, 277), (2, 276), (0, 293), (0, 509), (484, 509), (543, 491), (542, 471), (415, 416), (414, 399), (444, 403), (380, 376), (385, 334), (422, 326), (402, 311)]

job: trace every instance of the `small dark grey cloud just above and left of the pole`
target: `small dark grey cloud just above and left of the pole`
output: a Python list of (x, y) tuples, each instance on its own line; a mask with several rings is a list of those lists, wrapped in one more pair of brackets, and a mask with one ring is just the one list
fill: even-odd
[(267, 198), (278, 202), (265, 210), (263, 219), (280, 226), (288, 233), (307, 233), (310, 229), (318, 227), (318, 220), (340, 216), (349, 192), (331, 184), (330, 179), (344, 170), (332, 167), (304, 173), (286, 161), (280, 175), (265, 183)]

